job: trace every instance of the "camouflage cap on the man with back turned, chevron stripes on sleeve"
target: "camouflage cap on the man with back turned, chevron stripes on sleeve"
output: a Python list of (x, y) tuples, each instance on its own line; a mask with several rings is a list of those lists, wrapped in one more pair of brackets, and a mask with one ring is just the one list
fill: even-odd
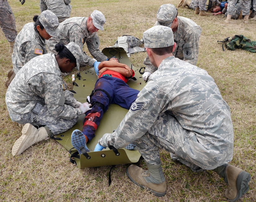
[(163, 48), (174, 45), (173, 30), (169, 27), (156, 25), (143, 33), (144, 47)]

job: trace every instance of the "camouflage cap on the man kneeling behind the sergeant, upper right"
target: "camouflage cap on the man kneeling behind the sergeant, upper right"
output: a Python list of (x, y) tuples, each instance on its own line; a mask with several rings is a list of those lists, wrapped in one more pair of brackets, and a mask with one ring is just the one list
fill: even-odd
[(177, 8), (173, 4), (163, 4), (159, 7), (156, 19), (158, 25), (171, 27), (174, 18), (177, 16)]

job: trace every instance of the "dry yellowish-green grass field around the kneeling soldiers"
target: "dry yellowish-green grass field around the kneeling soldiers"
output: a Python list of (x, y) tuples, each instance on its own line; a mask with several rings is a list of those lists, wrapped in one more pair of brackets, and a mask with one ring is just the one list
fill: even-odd
[[(26, 0), (21, 5), (18, 0), (9, 0), (16, 17), (19, 32), (24, 24), (33, 22), (39, 15), (39, 1)], [(71, 17), (88, 17), (93, 10), (101, 11), (106, 17), (104, 31), (99, 31), (100, 49), (114, 45), (117, 37), (133, 35), (142, 38), (143, 32), (156, 21), (160, 5), (179, 0), (72, 0)], [(178, 15), (194, 20), (202, 28), (197, 66), (208, 71), (224, 100), (231, 109), (234, 125), (234, 157), (232, 165), (251, 174), (249, 191), (239, 201), (256, 201), (255, 184), (255, 145), (256, 145), (256, 62), (255, 53), (242, 49), (222, 51), (222, 41), (236, 34), (256, 41), (256, 22), (244, 25), (242, 20), (231, 20), (224, 24), (221, 15), (194, 15), (191, 9), (178, 9)], [(68, 151), (55, 140), (33, 145), (18, 157), (11, 155), (14, 142), (21, 135), (21, 127), (12, 122), (5, 104), (6, 88), (4, 81), (12, 68), (9, 44), (0, 31), (0, 201), (179, 201), (215, 202), (227, 201), (224, 196), (226, 184), (212, 172), (193, 173), (188, 167), (170, 160), (167, 152), (161, 151), (161, 158), (167, 193), (156, 197), (149, 191), (134, 185), (126, 176), (128, 165), (118, 165), (112, 170), (112, 183), (108, 187), (110, 166), (79, 169), (69, 162)], [(88, 53), (86, 47), (84, 51)], [(89, 54), (89, 53), (88, 53)], [(143, 67), (146, 53), (131, 55), (135, 67)], [(81, 71), (86, 69), (83, 67)], [(65, 78), (68, 82), (69, 78)], [(71, 89), (70, 84), (70, 89)], [(145, 167), (144, 161), (138, 165)]]

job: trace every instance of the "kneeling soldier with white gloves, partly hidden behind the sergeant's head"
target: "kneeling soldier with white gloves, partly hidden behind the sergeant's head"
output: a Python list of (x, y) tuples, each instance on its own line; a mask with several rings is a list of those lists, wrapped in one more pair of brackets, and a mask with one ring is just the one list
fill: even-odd
[[(177, 44), (173, 52), (174, 57), (196, 65), (202, 29), (193, 20), (177, 15), (177, 8), (173, 4), (164, 4), (157, 11), (157, 22), (154, 26), (163, 25), (172, 28), (174, 41)], [(142, 78), (146, 81), (157, 68), (151, 64), (148, 56), (144, 64), (146, 69)]]

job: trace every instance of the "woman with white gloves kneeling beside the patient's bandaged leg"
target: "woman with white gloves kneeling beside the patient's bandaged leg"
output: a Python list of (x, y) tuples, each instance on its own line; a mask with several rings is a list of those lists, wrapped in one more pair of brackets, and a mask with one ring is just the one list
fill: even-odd
[(6, 105), (12, 121), (25, 124), (12, 147), (18, 156), (31, 145), (69, 130), (78, 116), (90, 110), (67, 89), (61, 72), (79, 70), (82, 58), (74, 42), (56, 45), (58, 54), (43, 54), (31, 59), (14, 77), (6, 92)]

